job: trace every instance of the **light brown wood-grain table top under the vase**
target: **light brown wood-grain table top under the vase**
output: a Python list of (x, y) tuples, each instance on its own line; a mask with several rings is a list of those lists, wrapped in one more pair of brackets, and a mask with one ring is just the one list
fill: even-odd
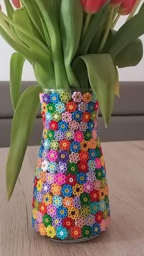
[(143, 256), (144, 141), (103, 143), (110, 187), (109, 229), (87, 243), (56, 243), (35, 233), (31, 201), (38, 147), (28, 147), (9, 203), (5, 194), (7, 148), (0, 149), (1, 256)]

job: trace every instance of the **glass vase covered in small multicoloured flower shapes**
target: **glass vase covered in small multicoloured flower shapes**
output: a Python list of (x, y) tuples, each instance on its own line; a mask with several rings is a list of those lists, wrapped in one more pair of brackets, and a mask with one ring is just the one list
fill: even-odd
[(40, 93), (43, 135), (34, 179), (32, 224), (56, 241), (85, 241), (110, 221), (95, 93)]

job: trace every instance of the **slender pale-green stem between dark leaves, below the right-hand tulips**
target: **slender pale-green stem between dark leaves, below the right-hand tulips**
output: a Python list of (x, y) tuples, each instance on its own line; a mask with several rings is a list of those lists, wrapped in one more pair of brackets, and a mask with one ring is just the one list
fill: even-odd
[(109, 16), (108, 16), (108, 19), (107, 19), (106, 31), (104, 32), (103, 39), (101, 41), (101, 44), (99, 45), (98, 53), (101, 53), (101, 51), (103, 50), (104, 45), (105, 45), (106, 40), (107, 40), (107, 37), (109, 35), (109, 30), (110, 30), (110, 27), (112, 25), (113, 11), (114, 11), (114, 8), (112, 8), (110, 10), (110, 13), (109, 13)]

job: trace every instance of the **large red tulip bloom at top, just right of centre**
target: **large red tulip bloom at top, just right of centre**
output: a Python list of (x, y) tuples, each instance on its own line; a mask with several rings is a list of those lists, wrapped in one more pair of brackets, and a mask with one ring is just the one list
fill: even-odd
[(107, 0), (81, 0), (85, 12), (96, 13)]

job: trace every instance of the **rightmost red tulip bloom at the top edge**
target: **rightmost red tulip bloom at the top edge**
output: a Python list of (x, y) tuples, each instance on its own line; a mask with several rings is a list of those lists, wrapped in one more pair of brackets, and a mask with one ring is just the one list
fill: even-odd
[(120, 6), (120, 10), (118, 12), (121, 15), (128, 15), (129, 13), (131, 13), (136, 2), (137, 0), (123, 0)]

